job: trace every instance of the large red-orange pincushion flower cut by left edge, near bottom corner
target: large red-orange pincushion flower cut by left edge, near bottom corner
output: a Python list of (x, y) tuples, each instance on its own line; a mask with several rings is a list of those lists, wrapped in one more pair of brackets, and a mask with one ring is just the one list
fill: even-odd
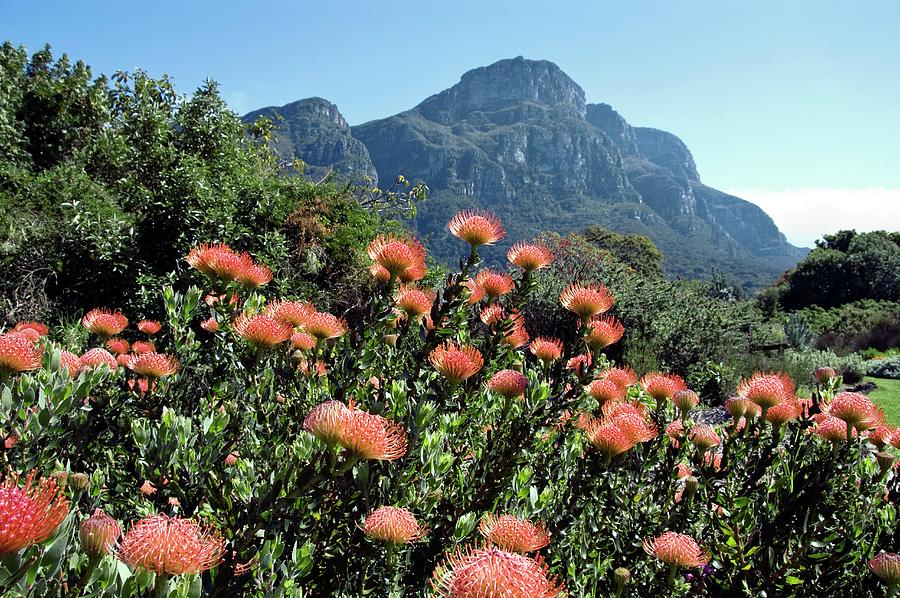
[(56, 480), (35, 480), (32, 471), (20, 487), (19, 478), (19, 473), (10, 473), (0, 486), (0, 555), (43, 542), (69, 513), (69, 503)]

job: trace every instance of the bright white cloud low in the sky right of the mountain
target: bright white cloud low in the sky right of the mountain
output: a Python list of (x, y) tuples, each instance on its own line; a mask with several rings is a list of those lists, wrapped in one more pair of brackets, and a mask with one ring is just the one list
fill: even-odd
[(823, 234), (841, 229), (900, 230), (900, 189), (805, 187), (781, 191), (729, 189), (727, 193), (765, 210), (794, 245), (812, 247)]

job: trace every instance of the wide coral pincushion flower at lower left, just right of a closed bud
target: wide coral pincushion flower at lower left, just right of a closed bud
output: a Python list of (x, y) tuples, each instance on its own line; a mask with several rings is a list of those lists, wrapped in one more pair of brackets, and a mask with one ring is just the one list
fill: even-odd
[(132, 569), (157, 575), (190, 575), (218, 565), (225, 541), (217, 529), (204, 528), (192, 519), (153, 515), (128, 530), (118, 552)]

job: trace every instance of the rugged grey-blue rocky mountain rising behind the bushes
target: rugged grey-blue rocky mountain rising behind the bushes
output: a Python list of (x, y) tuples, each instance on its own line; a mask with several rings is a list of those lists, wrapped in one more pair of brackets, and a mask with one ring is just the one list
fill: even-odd
[[(509, 231), (505, 243), (485, 249), (493, 262), (515, 240), (590, 224), (649, 236), (669, 275), (702, 278), (719, 269), (747, 288), (771, 282), (806, 253), (760, 208), (701, 183), (678, 137), (588, 104), (552, 62), (518, 57), (471, 70), (415, 108), (349, 131), (336, 108), (312, 117), (297, 108), (306, 102), (334, 108), (303, 100), (245, 119), (283, 117), (276, 131), (282, 155), (340, 174), (371, 170), (383, 182), (403, 174), (427, 183), (414, 225), (438, 259), (462, 251), (446, 223), (472, 207), (496, 212)], [(332, 152), (336, 140), (343, 153)], [(351, 141), (366, 153), (351, 152)]]

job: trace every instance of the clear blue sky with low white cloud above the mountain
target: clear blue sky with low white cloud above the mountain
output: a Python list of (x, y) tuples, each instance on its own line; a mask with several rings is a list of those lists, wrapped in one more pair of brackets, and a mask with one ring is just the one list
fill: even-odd
[[(588, 101), (679, 135), (707, 184), (788, 237), (900, 229), (900, 2), (0, 0), (0, 36), (143, 67), (245, 112), (313, 95), (357, 124), (501, 58), (556, 62)], [(819, 190), (823, 190), (821, 193)], [(790, 208), (790, 209), (787, 209)], [(808, 209), (807, 209), (808, 208)]]

